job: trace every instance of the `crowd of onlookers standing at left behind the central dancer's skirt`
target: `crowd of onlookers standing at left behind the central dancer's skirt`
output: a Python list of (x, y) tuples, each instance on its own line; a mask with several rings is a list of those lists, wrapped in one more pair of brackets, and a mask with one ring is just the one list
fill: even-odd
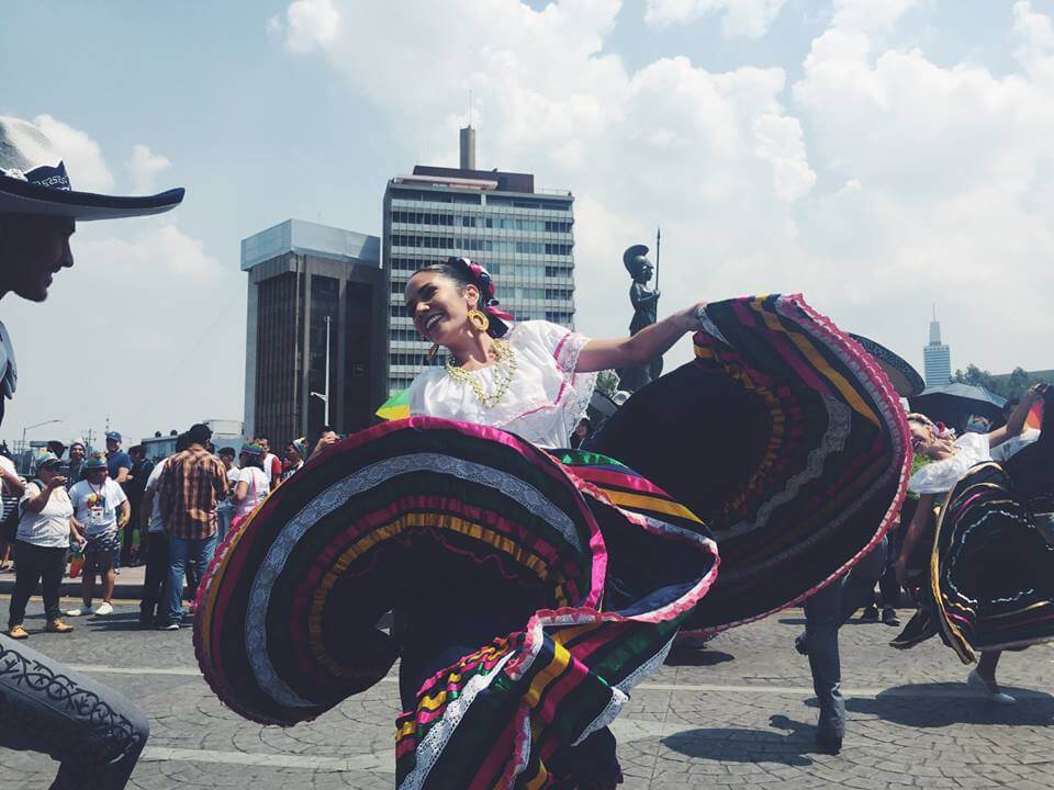
[[(322, 431), (319, 445), (336, 433)], [(86, 452), (85, 444), (48, 442), (22, 477), (11, 459), (0, 455), (5, 499), (4, 568), (15, 576), (8, 635), (23, 640), (26, 602), (40, 585), (49, 633), (68, 633), (63, 620), (113, 613), (113, 592), (121, 565), (145, 565), (139, 622), (175, 631), (194, 611), (202, 571), (229, 529), (236, 529), (304, 464), (303, 439), (271, 452), (270, 439), (256, 437), (216, 449), (208, 426), (191, 426), (176, 440), (176, 452), (153, 462), (142, 444), (125, 452), (122, 437), (106, 435), (106, 452)], [(69, 568), (69, 571), (67, 571)], [(82, 603), (58, 608), (61, 580), (81, 577)], [(94, 606), (96, 580), (101, 601)], [(186, 580), (186, 588), (184, 588)], [(182, 608), (182, 601), (188, 607)]]

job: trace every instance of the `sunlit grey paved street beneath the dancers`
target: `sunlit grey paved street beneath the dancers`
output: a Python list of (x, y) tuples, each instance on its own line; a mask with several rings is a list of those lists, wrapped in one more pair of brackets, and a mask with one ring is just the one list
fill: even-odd
[[(5, 608), (5, 602), (4, 602)], [(382, 682), (312, 724), (290, 730), (225, 710), (197, 673), (189, 629), (141, 631), (136, 610), (72, 621), (69, 636), (30, 643), (136, 700), (152, 736), (130, 787), (390, 788), (396, 687)], [(26, 625), (43, 629), (38, 602)], [(846, 787), (1054, 787), (1054, 651), (1006, 654), (1000, 678), (1019, 696), (1003, 708), (971, 693), (964, 668), (938, 640), (909, 653), (886, 646), (882, 624), (842, 631), (849, 733), (837, 757), (812, 753), (808, 666), (792, 648), (800, 611), (738, 629), (676, 656), (638, 687), (615, 725), (627, 790), (750, 785)], [(0, 751), (0, 788), (46, 788), (54, 764)]]

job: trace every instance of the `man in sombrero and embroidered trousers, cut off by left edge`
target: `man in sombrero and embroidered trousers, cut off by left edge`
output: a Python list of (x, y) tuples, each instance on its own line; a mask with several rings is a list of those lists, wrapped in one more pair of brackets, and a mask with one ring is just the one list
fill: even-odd
[[(36, 126), (0, 116), (0, 297), (46, 300), (55, 275), (74, 264), (69, 237), (78, 219), (158, 214), (182, 199), (181, 189), (141, 198), (77, 192)], [(0, 419), (16, 385), (14, 347), (0, 324)], [(2, 634), (0, 666), (8, 668), (0, 674), (0, 746), (58, 760), (52, 790), (125, 787), (149, 733), (132, 702)]]

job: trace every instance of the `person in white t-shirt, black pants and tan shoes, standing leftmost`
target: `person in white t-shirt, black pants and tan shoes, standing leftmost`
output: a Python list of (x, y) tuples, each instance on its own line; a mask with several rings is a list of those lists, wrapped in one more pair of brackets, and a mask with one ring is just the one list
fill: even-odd
[(18, 567), (8, 616), (8, 636), (11, 639), (30, 635), (22, 622), (25, 605), (37, 583), (43, 587), (46, 630), (52, 633), (72, 631), (59, 619), (58, 596), (70, 538), (79, 543), (81, 537), (74, 522), (74, 506), (66, 494), (66, 478), (59, 474), (61, 464), (52, 453), (41, 458), (36, 465), (37, 478), (25, 486), (19, 503)]

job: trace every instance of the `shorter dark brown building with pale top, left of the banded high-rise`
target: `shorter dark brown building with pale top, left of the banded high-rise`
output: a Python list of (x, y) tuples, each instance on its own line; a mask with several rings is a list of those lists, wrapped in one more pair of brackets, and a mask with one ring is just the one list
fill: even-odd
[(370, 425), (385, 391), (380, 241), (301, 219), (242, 240), (246, 436), (283, 449), (326, 422)]

